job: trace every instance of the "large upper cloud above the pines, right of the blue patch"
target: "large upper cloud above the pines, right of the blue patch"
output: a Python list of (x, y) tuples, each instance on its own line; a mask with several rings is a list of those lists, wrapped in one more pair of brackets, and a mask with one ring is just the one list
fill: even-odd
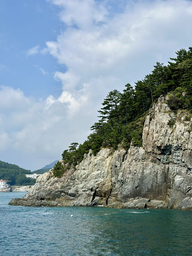
[(167, 64), (176, 50), (191, 43), (190, 1), (125, 1), (117, 14), (105, 1), (52, 2), (63, 8), (60, 17), (67, 29), (57, 41), (46, 42), (46, 51), (67, 66), (67, 72), (55, 72), (55, 78), (69, 92), (86, 83), (95, 93), (92, 81), (101, 76), (119, 80), (116, 88), (134, 85), (157, 61)]

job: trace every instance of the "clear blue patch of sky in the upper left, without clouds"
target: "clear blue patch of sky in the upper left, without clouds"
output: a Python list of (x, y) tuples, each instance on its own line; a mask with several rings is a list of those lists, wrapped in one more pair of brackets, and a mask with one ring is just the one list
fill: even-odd
[[(11, 4), (10, 4), (11, 3)], [(20, 88), (26, 96), (46, 99), (58, 96), (61, 86), (53, 79), (55, 70), (64, 71), (49, 54), (27, 55), (46, 41), (56, 40), (64, 23), (56, 5), (47, 1), (1, 1), (0, 54), (1, 84)]]

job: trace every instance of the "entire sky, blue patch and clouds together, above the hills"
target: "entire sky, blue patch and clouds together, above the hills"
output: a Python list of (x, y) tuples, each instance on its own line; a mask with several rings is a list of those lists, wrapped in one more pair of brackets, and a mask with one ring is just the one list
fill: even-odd
[(0, 3), (0, 160), (39, 169), (82, 143), (107, 93), (192, 46), (187, 0)]

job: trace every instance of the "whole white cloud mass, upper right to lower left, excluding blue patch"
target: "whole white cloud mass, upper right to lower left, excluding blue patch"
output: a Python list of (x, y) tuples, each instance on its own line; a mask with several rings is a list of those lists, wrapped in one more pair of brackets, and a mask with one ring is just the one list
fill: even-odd
[[(122, 90), (126, 83), (134, 85), (157, 61), (167, 64), (175, 51), (192, 42), (191, 1), (52, 0), (52, 4), (60, 8), (64, 29), (57, 40), (46, 42), (41, 53), (67, 67), (54, 74), (62, 84), (61, 95), (34, 100), (19, 89), (0, 88), (2, 159), (9, 152), (12, 162), (33, 169), (58, 159), (71, 142), (86, 139), (108, 92)], [(38, 45), (27, 56), (36, 53)]]

